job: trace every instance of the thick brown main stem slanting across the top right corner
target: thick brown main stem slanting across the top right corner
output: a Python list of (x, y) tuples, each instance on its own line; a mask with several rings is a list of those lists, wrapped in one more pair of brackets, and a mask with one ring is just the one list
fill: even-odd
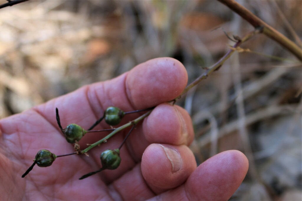
[(255, 28), (263, 27), (263, 33), (269, 38), (278, 42), (281, 46), (286, 48), (288, 51), (293, 53), (300, 61), (302, 61), (302, 49), (297, 46), (294, 42), (284, 36), (282, 33), (275, 30), (273, 27), (266, 24), (259, 17), (255, 16), (251, 11), (237, 3), (235, 0), (217, 0), (232, 11), (239, 14), (243, 19), (248, 21)]

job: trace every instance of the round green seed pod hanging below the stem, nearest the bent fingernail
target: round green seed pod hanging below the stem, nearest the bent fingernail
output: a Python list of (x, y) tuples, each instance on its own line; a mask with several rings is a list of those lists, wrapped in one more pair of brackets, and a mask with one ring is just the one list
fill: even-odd
[(120, 165), (120, 150), (107, 149), (102, 152), (101, 156), (102, 169), (114, 170)]

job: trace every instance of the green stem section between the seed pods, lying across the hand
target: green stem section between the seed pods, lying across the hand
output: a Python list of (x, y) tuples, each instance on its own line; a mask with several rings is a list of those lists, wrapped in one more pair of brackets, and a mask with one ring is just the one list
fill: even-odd
[(153, 109), (151, 109), (150, 111), (146, 112), (146, 113), (143, 114), (142, 116), (140, 116), (140, 117), (134, 119), (133, 121), (130, 121), (129, 123), (124, 124), (124, 125), (122, 125), (122, 126), (116, 128), (114, 131), (112, 131), (109, 135), (107, 135), (107, 136), (104, 137), (103, 139), (101, 139), (101, 140), (99, 140), (99, 141), (97, 141), (97, 142), (91, 144), (91, 145), (88, 146), (86, 149), (82, 150), (81, 153), (84, 154), (84, 153), (88, 152), (90, 149), (92, 149), (93, 147), (98, 146), (99, 144), (106, 142), (109, 138), (111, 138), (112, 136), (114, 136), (114, 135), (115, 135), (116, 133), (118, 133), (119, 131), (124, 130), (125, 128), (127, 128), (127, 127), (129, 127), (129, 126), (131, 126), (131, 125), (138, 124), (138, 123), (139, 123), (140, 121), (142, 121), (144, 118), (146, 118), (147, 116), (149, 116), (152, 110), (153, 110)]

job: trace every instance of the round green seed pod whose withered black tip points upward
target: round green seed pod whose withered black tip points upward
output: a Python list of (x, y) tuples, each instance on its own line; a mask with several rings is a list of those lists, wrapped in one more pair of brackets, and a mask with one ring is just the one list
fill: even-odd
[(63, 129), (64, 136), (69, 143), (79, 142), (81, 138), (87, 133), (82, 127), (77, 124), (69, 124)]

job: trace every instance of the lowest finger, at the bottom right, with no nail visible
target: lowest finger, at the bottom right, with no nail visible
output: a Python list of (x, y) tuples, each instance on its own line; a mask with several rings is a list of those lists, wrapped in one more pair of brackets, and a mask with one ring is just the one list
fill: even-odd
[(243, 153), (225, 151), (199, 165), (185, 184), (150, 200), (228, 200), (242, 183), (248, 168)]

